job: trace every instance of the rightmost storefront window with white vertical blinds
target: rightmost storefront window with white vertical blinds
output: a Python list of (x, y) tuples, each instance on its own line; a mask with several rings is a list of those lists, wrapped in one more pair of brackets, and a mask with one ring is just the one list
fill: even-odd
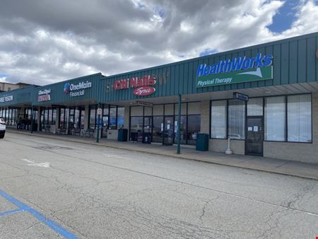
[(311, 95), (290, 95), (287, 99), (288, 141), (312, 141)]

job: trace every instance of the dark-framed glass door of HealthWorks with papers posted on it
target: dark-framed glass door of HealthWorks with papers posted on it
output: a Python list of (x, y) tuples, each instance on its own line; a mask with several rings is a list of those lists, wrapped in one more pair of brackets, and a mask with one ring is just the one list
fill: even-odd
[(263, 156), (263, 117), (247, 117), (245, 153)]

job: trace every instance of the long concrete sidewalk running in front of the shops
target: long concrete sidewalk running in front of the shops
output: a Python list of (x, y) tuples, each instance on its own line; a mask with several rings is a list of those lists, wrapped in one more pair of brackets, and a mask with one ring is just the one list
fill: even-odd
[(228, 165), (238, 168), (247, 168), (252, 170), (260, 170), (269, 173), (278, 173), (283, 175), (292, 175), (296, 177), (304, 177), (308, 179), (318, 180), (318, 164), (302, 163), (296, 161), (287, 161), (276, 158), (264, 158), (257, 156), (242, 155), (226, 155), (225, 153), (216, 153), (211, 151), (196, 151), (194, 148), (183, 146), (181, 153), (177, 154), (177, 146), (162, 146), (158, 144), (141, 144), (128, 142), (118, 142), (113, 140), (101, 139), (100, 143), (96, 143), (96, 139), (83, 138), (81, 136), (66, 136), (47, 134), (42, 132), (16, 131), (7, 129), (7, 132), (13, 134), (25, 134), (30, 136), (40, 136), (49, 139), (63, 139), (83, 144), (92, 144), (111, 148), (120, 148), (128, 151), (137, 151), (142, 153), (155, 153), (162, 156), (170, 156), (174, 158), (182, 158), (194, 161), (204, 161), (208, 163), (216, 163), (219, 165)]

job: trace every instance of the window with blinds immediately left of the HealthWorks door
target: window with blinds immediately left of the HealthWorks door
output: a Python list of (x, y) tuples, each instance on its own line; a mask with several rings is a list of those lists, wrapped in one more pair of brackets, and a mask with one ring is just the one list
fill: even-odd
[(228, 137), (245, 139), (245, 101), (228, 100)]

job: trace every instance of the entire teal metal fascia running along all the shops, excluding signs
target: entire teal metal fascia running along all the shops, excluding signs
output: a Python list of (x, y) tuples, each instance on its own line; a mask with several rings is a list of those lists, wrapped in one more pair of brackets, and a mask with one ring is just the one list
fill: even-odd
[[(156, 98), (179, 94), (185, 95), (314, 82), (318, 81), (317, 48), (318, 33), (312, 33), (114, 76), (102, 76), (102, 74), (98, 73), (47, 86), (30, 86), (16, 91), (0, 93), (0, 98), (6, 95), (13, 95), (13, 101), (0, 103), (0, 107), (23, 103), (30, 103), (35, 106), (66, 105), (78, 100), (94, 100), (97, 103), (112, 103), (123, 100)], [(232, 59), (233, 57), (240, 56), (253, 57), (259, 52), (261, 54), (273, 55), (272, 79), (196, 88), (196, 71), (200, 64), (216, 64), (219, 60)], [(134, 89), (132, 88), (114, 90), (114, 81), (132, 77), (142, 78), (145, 75), (155, 76), (156, 78), (155, 93), (152, 95), (136, 96), (133, 94)], [(70, 97), (69, 94), (64, 93), (65, 83), (78, 84), (86, 81), (91, 82), (92, 87), (86, 88), (84, 95)], [(39, 91), (44, 91), (45, 89), (51, 90), (51, 100), (38, 102)]]

